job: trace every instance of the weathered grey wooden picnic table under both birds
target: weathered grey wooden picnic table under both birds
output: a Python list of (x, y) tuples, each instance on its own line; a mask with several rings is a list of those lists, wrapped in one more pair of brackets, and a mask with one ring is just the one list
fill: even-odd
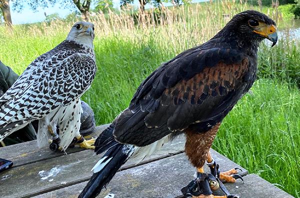
[[(107, 125), (96, 127), (97, 137)], [(176, 197), (192, 179), (195, 169), (183, 153), (184, 136), (165, 144), (160, 151), (136, 163), (128, 160), (98, 197)], [(101, 155), (93, 150), (68, 148), (67, 155), (37, 148), (36, 140), (0, 148), (0, 158), (13, 167), (0, 173), (0, 197), (77, 197), (92, 175), (90, 169)], [(222, 170), (240, 167), (214, 150)], [(293, 197), (266, 180), (240, 167), (244, 183), (225, 183), (240, 197)], [(207, 172), (208, 167), (205, 169)], [(214, 194), (222, 195), (219, 190)]]

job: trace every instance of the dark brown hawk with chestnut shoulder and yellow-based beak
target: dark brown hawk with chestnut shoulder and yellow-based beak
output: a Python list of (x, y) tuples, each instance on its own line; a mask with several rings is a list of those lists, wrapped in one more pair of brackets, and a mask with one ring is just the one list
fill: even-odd
[[(218, 174), (209, 148), (223, 118), (255, 80), (257, 48), (264, 38), (276, 43), (275, 23), (262, 13), (245, 11), (206, 43), (150, 74), (129, 107), (96, 139), (95, 152), (106, 153), (79, 197), (95, 197), (129, 157), (142, 159), (181, 133), (185, 153), (198, 171), (198, 178), (182, 188), (185, 196), (213, 197), (210, 187), (218, 179), (234, 182), (236, 170)], [(205, 161), (210, 174), (203, 172)], [(227, 192), (220, 197), (234, 196)]]

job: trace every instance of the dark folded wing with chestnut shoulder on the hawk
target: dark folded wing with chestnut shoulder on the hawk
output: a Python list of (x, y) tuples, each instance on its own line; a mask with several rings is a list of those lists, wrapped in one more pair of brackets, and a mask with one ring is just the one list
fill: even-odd
[(198, 47), (156, 69), (116, 119), (114, 136), (144, 146), (186, 128), (207, 131), (249, 88), (248, 58), (233, 49)]

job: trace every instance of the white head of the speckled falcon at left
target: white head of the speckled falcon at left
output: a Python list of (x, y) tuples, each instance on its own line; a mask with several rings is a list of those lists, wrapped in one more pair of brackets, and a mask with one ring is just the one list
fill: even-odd
[(92, 48), (94, 36), (94, 25), (92, 23), (77, 22), (71, 28), (66, 40), (76, 41)]

